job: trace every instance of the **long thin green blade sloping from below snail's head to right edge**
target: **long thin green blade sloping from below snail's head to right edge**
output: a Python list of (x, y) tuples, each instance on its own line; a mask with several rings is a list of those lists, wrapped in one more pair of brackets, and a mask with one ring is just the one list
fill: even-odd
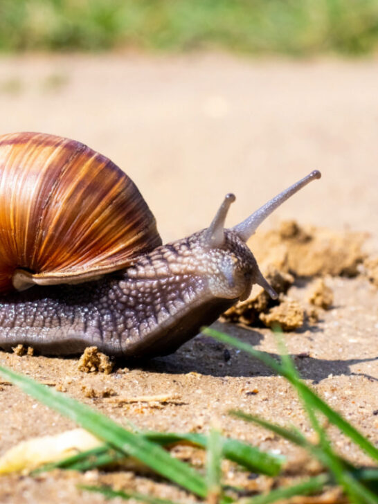
[(328, 404), (325, 403), (323, 399), (318, 397), (314, 390), (309, 388), (305, 383), (303, 383), (303, 381), (300, 381), (300, 379), (295, 378), (293, 375), (291, 375), (291, 373), (288, 372), (285, 366), (282, 366), (282, 364), (278, 363), (267, 353), (255, 350), (251, 345), (249, 345), (249, 343), (239, 341), (233, 336), (229, 336), (228, 334), (224, 334), (223, 332), (219, 332), (208, 327), (202, 330), (202, 332), (207, 336), (212, 336), (218, 341), (222, 341), (222, 343), (226, 343), (240, 350), (244, 350), (244, 352), (249, 353), (256, 359), (264, 363), (265, 366), (268, 366), (273, 371), (276, 371), (278, 372), (278, 374), (287, 378), (291, 382), (291, 384), (296, 385), (297, 388), (300, 388), (301, 393), (305, 391), (305, 393), (307, 394), (307, 400), (311, 400), (313, 408), (316, 408), (318, 411), (323, 413), (323, 415), (325, 415), (325, 417), (327, 417), (332, 424), (336, 425), (345, 435), (347, 435), (354, 443), (356, 443), (361, 449), (363, 449), (363, 451), (368, 453), (368, 455), (373, 460), (378, 462), (378, 449), (339, 413), (328, 406)]

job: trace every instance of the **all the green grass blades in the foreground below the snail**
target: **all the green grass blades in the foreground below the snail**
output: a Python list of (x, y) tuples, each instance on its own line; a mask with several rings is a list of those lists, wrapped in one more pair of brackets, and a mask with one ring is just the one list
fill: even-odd
[[(235, 348), (251, 354), (271, 370), (284, 376), (296, 389), (318, 438), (316, 442), (309, 442), (293, 426), (284, 427), (242, 411), (231, 411), (230, 414), (234, 417), (246, 422), (254, 422), (264, 429), (269, 429), (276, 435), (289, 440), (289, 442), (307, 449), (310, 456), (321, 462), (324, 468), (323, 473), (318, 476), (305, 478), (295, 485), (273, 489), (268, 494), (261, 494), (253, 498), (242, 498), (242, 501), (239, 500), (238, 502), (244, 504), (273, 503), (282, 498), (322, 492), (325, 488), (339, 485), (351, 503), (377, 503), (378, 449), (300, 379), (280, 340), (278, 344), (281, 358), (280, 361), (276, 361), (269, 354), (259, 352), (251, 345), (222, 332), (206, 329), (204, 334), (213, 336), (223, 343), (233, 345)], [(206, 499), (210, 504), (228, 504), (235, 501), (235, 489), (233, 493), (230, 493), (228, 487), (225, 487), (222, 483), (221, 464), (223, 458), (237, 462), (244, 467), (244, 470), (248, 469), (249, 471), (271, 476), (277, 475), (282, 467), (282, 458), (264, 453), (239, 440), (224, 438), (217, 429), (211, 429), (209, 435), (127, 431), (105, 415), (89, 408), (89, 406), (81, 404), (56, 390), (38, 384), (28, 377), (17, 375), (8, 368), (0, 367), (0, 374), (35, 399), (71, 418), (71, 420), (104, 441), (102, 447), (86, 453), (79, 453), (62, 462), (44, 467), (44, 470), (52, 467), (87, 470), (93, 467), (101, 467), (110, 461), (119, 460), (120, 457), (133, 456), (147, 467), (150, 467), (156, 474), (186, 489), (192, 494), (193, 498)], [(357, 447), (365, 451), (372, 459), (372, 467), (355, 467), (351, 462), (339, 456), (334, 451), (327, 437), (327, 432), (321, 426), (319, 415), (326, 417), (343, 435), (350, 438)], [(163, 449), (163, 447), (168, 448), (170, 445), (180, 442), (190, 443), (207, 450), (206, 474), (195, 471), (190, 465), (173, 458), (168, 451)], [(137, 501), (152, 504), (171, 504), (170, 501), (165, 499), (135, 493), (129, 494), (109, 487), (82, 488), (90, 492), (100, 492), (107, 498), (117, 496), (125, 500), (134, 498)]]

